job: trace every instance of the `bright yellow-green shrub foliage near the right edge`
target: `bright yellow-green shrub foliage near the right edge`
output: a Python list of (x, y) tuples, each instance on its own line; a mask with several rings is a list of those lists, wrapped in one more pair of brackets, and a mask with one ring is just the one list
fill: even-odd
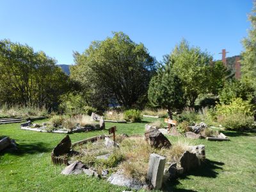
[(230, 104), (218, 104), (216, 106), (218, 115), (232, 115), (235, 113), (241, 113), (244, 115), (253, 115), (253, 106), (250, 101), (243, 100), (241, 98), (232, 99)]

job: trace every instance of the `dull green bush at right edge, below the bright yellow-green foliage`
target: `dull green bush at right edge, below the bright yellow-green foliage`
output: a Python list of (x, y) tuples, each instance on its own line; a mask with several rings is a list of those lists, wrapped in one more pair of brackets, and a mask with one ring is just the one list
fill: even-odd
[(218, 116), (218, 122), (227, 130), (243, 131), (253, 129), (253, 116), (246, 116), (244, 113), (233, 113), (226, 116)]

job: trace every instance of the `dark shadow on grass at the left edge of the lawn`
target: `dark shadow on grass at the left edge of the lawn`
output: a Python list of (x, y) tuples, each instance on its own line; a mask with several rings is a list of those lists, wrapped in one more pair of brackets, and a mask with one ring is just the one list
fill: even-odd
[(3, 154), (12, 154), (14, 156), (22, 156), (24, 154), (36, 154), (41, 152), (50, 152), (52, 149), (46, 147), (45, 143), (36, 142), (36, 143), (17, 143), (17, 150), (13, 148), (6, 148), (0, 152), (0, 156)]

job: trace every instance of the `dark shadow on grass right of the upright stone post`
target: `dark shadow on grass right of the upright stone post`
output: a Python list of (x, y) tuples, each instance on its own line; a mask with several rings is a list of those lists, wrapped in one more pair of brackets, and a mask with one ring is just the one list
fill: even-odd
[(223, 168), (221, 166), (223, 166), (223, 164), (224, 163), (218, 161), (211, 161), (209, 159), (205, 159), (205, 161), (202, 162), (200, 168), (190, 171), (189, 173), (186, 173), (184, 175), (180, 175), (178, 179), (170, 179), (166, 181), (163, 184), (163, 191), (195, 191), (191, 189), (177, 188), (177, 186), (180, 184), (179, 180), (189, 180), (189, 175), (193, 175), (196, 177), (216, 178), (218, 175), (218, 172), (216, 172), (216, 170), (222, 170)]

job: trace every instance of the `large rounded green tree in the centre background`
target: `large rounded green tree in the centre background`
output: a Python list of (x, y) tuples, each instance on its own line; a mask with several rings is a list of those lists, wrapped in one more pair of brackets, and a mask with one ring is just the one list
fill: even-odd
[(82, 54), (75, 52), (74, 58), (71, 77), (83, 85), (86, 99), (97, 102), (100, 95), (100, 100), (114, 99), (128, 108), (147, 93), (156, 64), (143, 44), (122, 32), (92, 42)]

